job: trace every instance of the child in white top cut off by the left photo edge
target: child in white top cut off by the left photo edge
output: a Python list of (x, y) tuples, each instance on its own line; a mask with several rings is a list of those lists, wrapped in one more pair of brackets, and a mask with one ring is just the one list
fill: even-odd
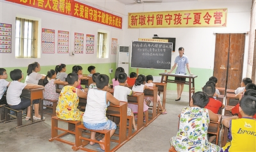
[(7, 104), (6, 97), (4, 92), (7, 90), (7, 86), (10, 85), (10, 82), (6, 81), (8, 78), (8, 74), (6, 73), (6, 69), (0, 68), (0, 104)]

